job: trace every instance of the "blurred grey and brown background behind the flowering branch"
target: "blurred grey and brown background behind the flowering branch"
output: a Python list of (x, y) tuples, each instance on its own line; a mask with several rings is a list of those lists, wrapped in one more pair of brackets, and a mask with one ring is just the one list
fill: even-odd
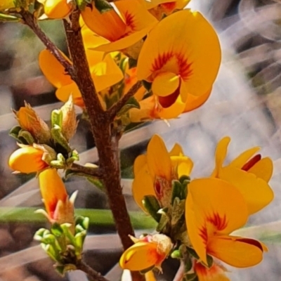
[[(189, 6), (214, 24), (223, 49), (221, 70), (205, 105), (169, 121), (169, 125), (151, 122), (122, 137), (122, 181), (128, 207), (138, 210), (131, 199), (131, 167), (136, 156), (145, 151), (152, 134), (159, 133), (169, 149), (176, 142), (183, 145), (185, 154), (195, 162), (193, 178), (209, 175), (214, 168), (216, 143), (223, 136), (230, 136), (228, 159), (259, 145), (262, 155), (274, 161), (270, 183), (275, 200), (251, 216), (248, 226), (253, 228), (245, 235), (278, 235), (281, 223), (274, 222), (280, 220), (281, 214), (281, 1), (193, 0)], [(66, 53), (61, 22), (43, 22), (41, 27)], [(55, 273), (52, 262), (32, 238), (38, 228), (46, 226), (44, 220), (27, 222), (24, 212), (22, 222), (8, 217), (13, 214), (13, 207), (41, 206), (34, 175), (11, 174), (7, 162), (16, 148), (15, 141), (8, 136), (9, 129), (16, 124), (11, 108), (18, 110), (26, 100), (48, 121), (51, 110), (60, 107), (55, 89), (39, 70), (37, 57), (43, 48), (26, 27), (0, 22), (0, 281), (86, 280), (84, 273), (78, 271), (64, 278)], [(81, 153), (81, 164), (97, 160), (91, 133), (83, 119), (72, 146)], [(70, 193), (79, 189), (77, 207), (108, 209), (103, 192), (90, 183), (73, 178), (66, 184)], [(90, 234), (86, 240), (86, 261), (108, 279), (119, 280), (122, 271), (117, 262), (121, 247), (115, 227), (93, 222)], [(270, 251), (259, 266), (244, 270), (228, 267), (231, 279), (280, 280), (280, 244), (278, 240), (268, 244)], [(175, 261), (165, 261), (164, 275), (159, 275), (158, 280), (173, 280), (177, 266)], [(126, 280), (129, 277), (124, 277), (123, 281)]]

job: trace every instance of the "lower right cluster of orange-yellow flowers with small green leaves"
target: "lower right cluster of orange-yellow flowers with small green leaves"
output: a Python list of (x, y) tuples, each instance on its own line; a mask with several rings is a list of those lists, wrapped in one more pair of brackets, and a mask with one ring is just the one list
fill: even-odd
[[(268, 185), (273, 162), (256, 154), (256, 147), (224, 165), (229, 142), (228, 137), (219, 141), (213, 173), (190, 181), (192, 161), (181, 146), (168, 152), (162, 138), (152, 137), (147, 154), (134, 163), (133, 197), (159, 223), (159, 234), (134, 239), (136, 244), (120, 259), (122, 268), (152, 270), (171, 255), (185, 263), (186, 280), (195, 275), (199, 280), (228, 280), (220, 261), (237, 268), (261, 262), (268, 251), (265, 244), (231, 233), (273, 200)], [(158, 235), (162, 240), (150, 238)], [(169, 240), (164, 250), (163, 240)]]

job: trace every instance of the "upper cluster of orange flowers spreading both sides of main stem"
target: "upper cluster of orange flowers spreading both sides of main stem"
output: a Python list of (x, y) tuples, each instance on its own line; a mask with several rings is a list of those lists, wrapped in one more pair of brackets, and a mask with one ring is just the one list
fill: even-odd
[[(119, 0), (107, 4), (103, 13), (94, 3), (81, 8), (86, 58), (103, 108), (126, 95), (136, 81), (143, 81), (134, 96), (138, 106), (122, 112), (125, 125), (176, 118), (209, 98), (221, 48), (203, 15), (183, 10), (188, 2)], [(42, 3), (48, 18), (65, 18), (73, 6), (67, 0)], [(85, 107), (77, 84), (50, 51), (41, 51), (39, 65), (57, 89), (58, 99), (65, 102), (72, 95), (76, 105)]]

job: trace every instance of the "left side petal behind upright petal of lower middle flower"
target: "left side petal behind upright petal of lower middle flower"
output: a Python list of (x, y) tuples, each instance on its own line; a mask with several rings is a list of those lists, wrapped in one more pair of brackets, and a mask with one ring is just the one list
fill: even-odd
[(143, 197), (145, 195), (155, 195), (155, 190), (153, 186), (152, 177), (148, 171), (148, 165), (145, 164), (137, 174), (135, 174), (135, 178), (133, 179), (132, 185), (132, 193), (133, 199), (136, 201), (139, 207), (146, 212), (143, 208)]

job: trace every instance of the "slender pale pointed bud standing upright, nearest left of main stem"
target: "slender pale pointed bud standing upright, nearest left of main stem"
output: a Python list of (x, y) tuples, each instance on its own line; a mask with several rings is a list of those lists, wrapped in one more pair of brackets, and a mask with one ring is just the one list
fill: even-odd
[(74, 136), (74, 133), (77, 129), (76, 114), (72, 95), (70, 95), (70, 98), (63, 105), (63, 107), (60, 108), (60, 110), (63, 112), (62, 133), (67, 141), (69, 141), (70, 138)]

